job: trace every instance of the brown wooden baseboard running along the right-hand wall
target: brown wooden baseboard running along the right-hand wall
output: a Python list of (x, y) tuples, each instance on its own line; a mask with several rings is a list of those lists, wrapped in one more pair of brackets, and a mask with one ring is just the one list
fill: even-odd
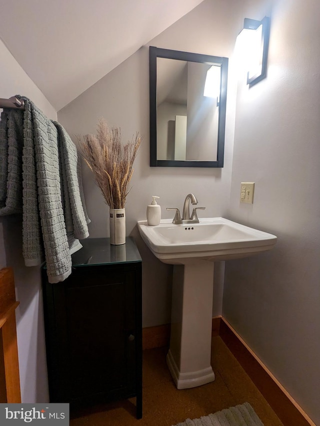
[(284, 426), (316, 426), (223, 317), (220, 321), (220, 337)]

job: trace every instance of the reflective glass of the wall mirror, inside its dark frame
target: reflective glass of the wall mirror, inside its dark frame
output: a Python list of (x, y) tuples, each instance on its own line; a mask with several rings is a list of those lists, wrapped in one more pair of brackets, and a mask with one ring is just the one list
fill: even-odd
[(156, 66), (157, 159), (216, 161), (220, 65), (157, 58)]

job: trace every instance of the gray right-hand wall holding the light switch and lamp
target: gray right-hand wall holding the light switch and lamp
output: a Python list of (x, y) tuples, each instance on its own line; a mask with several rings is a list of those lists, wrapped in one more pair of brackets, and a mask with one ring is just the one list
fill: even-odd
[[(264, 3), (244, 12), (270, 15), (271, 36), (267, 78), (238, 85), (228, 216), (278, 242), (226, 262), (223, 316), (320, 424), (320, 4)], [(243, 181), (252, 205), (239, 203)]]

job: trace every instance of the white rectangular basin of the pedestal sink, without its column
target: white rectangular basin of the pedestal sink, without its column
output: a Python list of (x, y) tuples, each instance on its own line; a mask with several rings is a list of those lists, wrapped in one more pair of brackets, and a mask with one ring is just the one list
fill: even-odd
[(199, 221), (173, 225), (171, 220), (161, 220), (155, 227), (139, 221), (138, 229), (154, 256), (169, 264), (238, 259), (270, 250), (276, 243), (272, 234), (224, 218)]

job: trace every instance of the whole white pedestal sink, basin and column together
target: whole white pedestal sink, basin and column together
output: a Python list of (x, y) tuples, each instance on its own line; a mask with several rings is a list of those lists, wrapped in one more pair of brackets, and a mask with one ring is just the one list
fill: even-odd
[(173, 264), (171, 336), (167, 365), (178, 389), (214, 380), (210, 364), (215, 260), (238, 259), (272, 249), (276, 237), (224, 218), (198, 224), (154, 227), (137, 223), (140, 235), (160, 261)]

